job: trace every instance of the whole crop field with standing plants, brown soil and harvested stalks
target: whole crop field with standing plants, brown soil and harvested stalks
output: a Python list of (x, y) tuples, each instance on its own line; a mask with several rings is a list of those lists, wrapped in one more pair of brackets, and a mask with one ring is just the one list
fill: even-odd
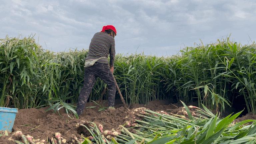
[(106, 110), (108, 88), (97, 79), (77, 119), (86, 55), (44, 50), (33, 37), (0, 39), (0, 107), (19, 109), (0, 142), (256, 143), (254, 42), (225, 38), (169, 57), (117, 54), (114, 76), (129, 110), (118, 93), (116, 109)]

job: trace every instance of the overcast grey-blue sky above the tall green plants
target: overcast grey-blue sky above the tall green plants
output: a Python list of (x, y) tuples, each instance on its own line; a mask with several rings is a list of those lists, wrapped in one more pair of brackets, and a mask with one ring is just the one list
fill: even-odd
[(255, 0), (0, 0), (0, 38), (36, 34), (44, 49), (81, 50), (114, 25), (117, 53), (166, 56), (229, 34), (255, 41), (255, 7)]

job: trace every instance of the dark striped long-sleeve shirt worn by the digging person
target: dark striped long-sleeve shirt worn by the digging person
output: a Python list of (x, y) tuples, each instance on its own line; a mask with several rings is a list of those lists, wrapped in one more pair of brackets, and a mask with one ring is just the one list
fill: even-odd
[(108, 64), (108, 55), (110, 56), (109, 65), (114, 66), (115, 60), (115, 39), (106, 32), (97, 32), (94, 34), (87, 54), (87, 59), (99, 59), (97, 62)]

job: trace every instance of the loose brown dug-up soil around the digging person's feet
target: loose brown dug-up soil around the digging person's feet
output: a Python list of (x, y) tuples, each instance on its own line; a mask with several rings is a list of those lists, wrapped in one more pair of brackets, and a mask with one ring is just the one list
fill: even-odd
[[(102, 101), (102, 106), (107, 106), (107, 101)], [(175, 105), (170, 104), (169, 101), (152, 101), (147, 106), (142, 104), (133, 104), (129, 107), (130, 111), (125, 110), (125, 108), (116, 102), (115, 110), (106, 110), (98, 112), (99, 106), (94, 102), (89, 102), (86, 107), (97, 106), (95, 108), (87, 108), (80, 116), (79, 119), (70, 119), (64, 110), (60, 110), (60, 114), (53, 113), (53, 111), (45, 112), (47, 107), (41, 109), (20, 109), (16, 115), (15, 123), (13, 126), (13, 131), (22, 131), (24, 135), (31, 135), (34, 139), (44, 139), (54, 137), (56, 132), (61, 133), (62, 137), (68, 141), (72, 140), (71, 135), (75, 134), (80, 138), (82, 131), (77, 129), (75, 125), (81, 123), (81, 121), (91, 121), (95, 123), (100, 123), (103, 125), (103, 130), (112, 130), (118, 128), (119, 125), (123, 125), (126, 121), (135, 118), (132, 114), (132, 109), (139, 107), (146, 107), (151, 110), (165, 110), (177, 109)], [(179, 105), (179, 104), (176, 104)], [(11, 135), (11, 134), (10, 134)], [(9, 137), (10, 137), (9, 135)], [(0, 137), (0, 143), (10, 144), (8, 141), (9, 137)]]

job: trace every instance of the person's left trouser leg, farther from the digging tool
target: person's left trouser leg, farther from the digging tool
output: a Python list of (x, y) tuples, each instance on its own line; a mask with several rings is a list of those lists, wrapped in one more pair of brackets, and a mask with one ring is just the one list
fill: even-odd
[(85, 104), (91, 94), (95, 81), (96, 81), (95, 75), (88, 73), (88, 71), (85, 70), (84, 85), (80, 91), (80, 94), (78, 97), (77, 109), (76, 109), (78, 115), (81, 115), (82, 112), (84, 111)]

